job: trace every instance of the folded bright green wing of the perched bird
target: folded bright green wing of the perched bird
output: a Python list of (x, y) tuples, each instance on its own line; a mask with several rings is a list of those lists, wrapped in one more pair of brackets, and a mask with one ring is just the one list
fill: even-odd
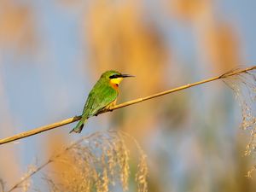
[(83, 116), (85, 115), (89, 118), (90, 116), (95, 115), (102, 108), (105, 108), (108, 104), (116, 100), (117, 96), (118, 91), (114, 90), (110, 85), (97, 82), (90, 91), (84, 105)]

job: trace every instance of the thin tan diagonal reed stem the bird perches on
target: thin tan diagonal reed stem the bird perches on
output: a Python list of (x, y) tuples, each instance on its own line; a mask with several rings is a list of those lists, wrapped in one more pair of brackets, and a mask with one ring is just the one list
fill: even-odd
[[(213, 77), (211, 79), (204, 79), (204, 80), (195, 82), (193, 84), (186, 84), (186, 85), (174, 88), (172, 90), (166, 90), (166, 91), (156, 93), (156, 94), (151, 95), (151, 96), (145, 96), (143, 98), (138, 98), (138, 99), (135, 99), (135, 100), (131, 100), (130, 102), (124, 102), (124, 103), (121, 103), (119, 105), (114, 106), (113, 108), (108, 108), (107, 110), (101, 111), (97, 114), (110, 112), (110, 111), (116, 110), (118, 108), (125, 108), (127, 106), (136, 104), (138, 102), (144, 102), (144, 101), (147, 101), (149, 99), (153, 99), (153, 98), (158, 97), (158, 96), (164, 96), (164, 95), (170, 94), (172, 92), (176, 92), (176, 91), (179, 91), (179, 90), (185, 90), (185, 89), (188, 89), (189, 87), (193, 87), (193, 86), (196, 86), (196, 85), (199, 85), (199, 84), (206, 84), (208, 82), (215, 81), (215, 80), (218, 80), (218, 79), (225, 79), (225, 78), (228, 78), (230, 76), (236, 75), (238, 73), (246, 73), (247, 71), (251, 71), (253, 69), (256, 69), (256, 66), (233, 70), (233, 71), (230, 71), (228, 73), (224, 73), (220, 76)], [(61, 121), (53, 123), (53, 124), (44, 125), (44, 126), (35, 128), (31, 131), (24, 131), (24, 132), (21, 132), (19, 134), (16, 134), (15, 136), (0, 139), (0, 145), (2, 145), (4, 143), (14, 142), (14, 141), (16, 141), (18, 139), (21, 139), (21, 138), (31, 137), (31, 136), (36, 135), (38, 133), (41, 133), (41, 132), (44, 132), (44, 131), (49, 131), (49, 130), (55, 129), (57, 127), (60, 127), (60, 126), (73, 123), (73, 122), (75, 122), (79, 119), (81, 119), (81, 116), (75, 116), (73, 118), (64, 119), (64, 120), (61, 120)]]

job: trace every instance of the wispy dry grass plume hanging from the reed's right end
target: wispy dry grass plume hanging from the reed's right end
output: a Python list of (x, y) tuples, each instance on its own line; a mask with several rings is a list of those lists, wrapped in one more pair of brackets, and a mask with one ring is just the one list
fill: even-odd
[[(229, 73), (225, 73), (223, 76), (227, 74)], [(241, 107), (241, 129), (249, 131), (251, 134), (245, 155), (251, 155), (256, 149), (256, 70), (237, 73), (223, 80), (234, 91), (236, 100)], [(254, 170), (255, 167), (248, 172), (249, 177)]]

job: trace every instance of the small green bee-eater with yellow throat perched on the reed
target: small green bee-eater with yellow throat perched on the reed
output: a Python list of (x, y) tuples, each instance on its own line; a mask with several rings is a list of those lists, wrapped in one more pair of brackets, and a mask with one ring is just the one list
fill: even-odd
[(96, 115), (104, 109), (115, 105), (119, 96), (119, 84), (124, 78), (134, 77), (129, 74), (122, 74), (117, 71), (102, 73), (101, 78), (96, 82), (84, 105), (82, 118), (71, 132), (80, 133), (84, 124), (91, 116)]

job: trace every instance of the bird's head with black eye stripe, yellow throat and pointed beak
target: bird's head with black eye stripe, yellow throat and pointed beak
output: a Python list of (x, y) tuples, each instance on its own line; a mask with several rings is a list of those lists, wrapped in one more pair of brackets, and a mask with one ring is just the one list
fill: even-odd
[(103, 73), (101, 78), (108, 80), (109, 84), (111, 84), (113, 88), (117, 89), (119, 87), (120, 82), (124, 78), (131, 78), (131, 77), (135, 77), (135, 76), (130, 74), (122, 74), (112, 70), (112, 71), (107, 71)]

